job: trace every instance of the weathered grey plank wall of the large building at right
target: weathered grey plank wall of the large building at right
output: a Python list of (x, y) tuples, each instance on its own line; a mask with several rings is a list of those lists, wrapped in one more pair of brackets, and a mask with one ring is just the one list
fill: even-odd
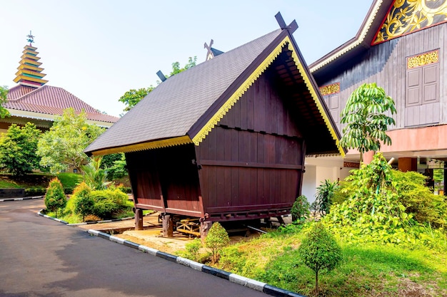
[[(341, 92), (338, 98), (331, 95), (331, 99), (338, 100), (331, 103), (336, 107), (331, 109), (331, 113), (341, 113), (349, 95), (359, 85), (376, 82), (396, 103), (397, 115), (394, 116), (396, 126), (390, 127), (390, 130), (447, 123), (447, 85), (443, 83), (443, 78), (447, 78), (446, 36), (447, 24), (433, 26), (372, 46), (366, 53), (349, 61), (345, 66), (331, 69), (333, 73), (331, 78), (328, 78), (328, 73), (324, 76), (318, 71), (314, 73), (320, 86), (340, 83)], [(436, 94), (431, 94), (431, 97), (435, 96), (438, 100), (427, 102), (426, 98), (421, 98), (420, 104), (412, 104), (413, 99), (409, 98), (407, 91), (406, 58), (436, 49), (439, 50), (439, 65), (436, 66), (439, 84), (436, 87)], [(326, 104), (328, 97), (325, 96)], [(343, 125), (339, 122), (337, 125), (341, 131)]]

